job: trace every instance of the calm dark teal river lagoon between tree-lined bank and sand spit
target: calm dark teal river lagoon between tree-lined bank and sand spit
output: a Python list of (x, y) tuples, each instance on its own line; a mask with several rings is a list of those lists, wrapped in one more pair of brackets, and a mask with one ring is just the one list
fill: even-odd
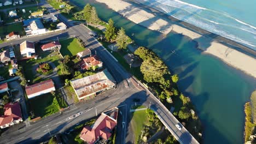
[[(71, 0), (84, 7), (89, 0)], [(112, 18), (137, 44), (153, 49), (174, 73), (179, 88), (189, 95), (205, 128), (203, 143), (243, 143), (243, 105), (256, 88), (256, 79), (196, 50), (196, 43), (180, 34), (160, 33), (121, 17), (104, 4), (93, 3), (100, 18)], [(175, 50), (177, 55), (172, 53)]]

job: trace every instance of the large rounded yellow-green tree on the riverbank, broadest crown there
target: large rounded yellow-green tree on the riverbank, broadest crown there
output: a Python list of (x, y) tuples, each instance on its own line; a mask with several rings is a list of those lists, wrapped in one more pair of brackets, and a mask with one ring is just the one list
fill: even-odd
[(141, 65), (141, 72), (147, 82), (164, 83), (164, 75), (168, 73), (166, 65), (159, 58), (146, 59)]

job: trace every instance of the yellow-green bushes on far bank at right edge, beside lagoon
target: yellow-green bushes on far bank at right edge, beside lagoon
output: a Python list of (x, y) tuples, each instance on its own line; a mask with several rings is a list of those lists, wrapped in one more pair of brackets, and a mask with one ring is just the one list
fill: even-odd
[(251, 141), (253, 143), (255, 136), (255, 106), (256, 106), (256, 91), (251, 95), (251, 101), (245, 104), (245, 142)]

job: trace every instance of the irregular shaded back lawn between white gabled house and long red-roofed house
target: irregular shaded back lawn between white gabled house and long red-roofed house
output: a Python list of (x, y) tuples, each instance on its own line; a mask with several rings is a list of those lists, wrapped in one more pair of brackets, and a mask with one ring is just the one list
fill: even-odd
[[(27, 61), (21, 61), (20, 64), (22, 65), (24, 71), (25, 71), (25, 78), (26, 80), (30, 80), (31, 83), (37, 83), (40, 81), (44, 81), (46, 79), (43, 79), (39, 76), (34, 75), (33, 73), (33, 66), (40, 63), (40, 62), (52, 62), (55, 64), (56, 67), (58, 67), (59, 59), (61, 59), (60, 55), (58, 55), (59, 52), (44, 52), (42, 49), (40, 49), (40, 46), (35, 44), (36, 53), (41, 57), (42, 59), (29, 59)], [(19, 52), (19, 47), (15, 50), (15, 52)], [(54, 55), (54, 56), (51, 56)]]

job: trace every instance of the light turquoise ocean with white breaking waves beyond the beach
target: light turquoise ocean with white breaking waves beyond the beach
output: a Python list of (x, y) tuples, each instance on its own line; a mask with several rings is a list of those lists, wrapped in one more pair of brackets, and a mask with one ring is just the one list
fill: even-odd
[(256, 1), (136, 1), (256, 50)]

